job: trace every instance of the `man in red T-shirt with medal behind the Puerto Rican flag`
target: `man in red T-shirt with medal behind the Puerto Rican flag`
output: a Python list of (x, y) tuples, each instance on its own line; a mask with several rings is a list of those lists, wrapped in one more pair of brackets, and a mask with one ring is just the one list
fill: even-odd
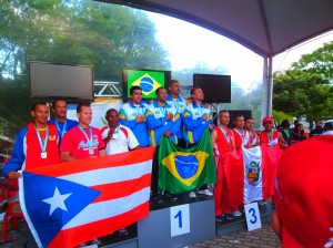
[(90, 126), (92, 113), (89, 103), (80, 103), (77, 107), (79, 125), (67, 132), (60, 145), (63, 162), (87, 157), (105, 156), (105, 144), (98, 128)]

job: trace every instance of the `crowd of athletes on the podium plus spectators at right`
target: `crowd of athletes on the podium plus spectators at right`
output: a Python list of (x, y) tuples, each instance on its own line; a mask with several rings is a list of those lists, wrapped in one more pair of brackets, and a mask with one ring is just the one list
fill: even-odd
[[(275, 130), (274, 120), (270, 116), (263, 118), (264, 130), (260, 132), (253, 130), (254, 118), (244, 118), (243, 115), (236, 115), (232, 120), (235, 127), (230, 128), (230, 114), (225, 110), (218, 113), (218, 124), (214, 125), (213, 114), (204, 104), (202, 89), (191, 90), (191, 102), (180, 96), (180, 83), (176, 80), (169, 83), (168, 90), (157, 89), (157, 99), (151, 104), (144, 104), (142, 89), (132, 86), (128, 103), (124, 103), (120, 110), (107, 110), (108, 125), (101, 130), (90, 125), (92, 111), (89, 103), (78, 104), (78, 121), (67, 118), (67, 102), (61, 99), (52, 103), (53, 120), (49, 120), (49, 106), (46, 102), (36, 103), (31, 110), (33, 122), (18, 134), (12, 157), (3, 167), (3, 176), (14, 179), (21, 177), (19, 170), (36, 166), (154, 146), (152, 198), (159, 204), (163, 203), (165, 196), (175, 200), (175, 195), (158, 190), (160, 140), (165, 136), (183, 148), (191, 148), (199, 143), (208, 128), (216, 158), (218, 179), (213, 192), (208, 185), (203, 185), (188, 194), (190, 199), (195, 199), (196, 194), (213, 196), (215, 219), (224, 221), (242, 215), (244, 202), (243, 187), (240, 185), (244, 180), (244, 164), (239, 159), (242, 149), (265, 146), (278, 154), (293, 143), (309, 137), (301, 123), (296, 123), (292, 130), (287, 120)], [(321, 128), (317, 122), (310, 136), (321, 134), (323, 132)], [(232, 173), (229, 172), (230, 164), (233, 166)], [(270, 175), (274, 176), (273, 173)], [(266, 200), (268, 197), (270, 196), (263, 197), (262, 200)], [(122, 231), (125, 232), (125, 228)]]

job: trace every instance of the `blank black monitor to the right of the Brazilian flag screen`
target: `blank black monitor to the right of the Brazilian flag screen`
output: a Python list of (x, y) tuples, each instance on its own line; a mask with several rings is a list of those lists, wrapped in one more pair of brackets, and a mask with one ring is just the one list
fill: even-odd
[(231, 102), (231, 76), (214, 74), (193, 74), (193, 85), (201, 87), (206, 103)]

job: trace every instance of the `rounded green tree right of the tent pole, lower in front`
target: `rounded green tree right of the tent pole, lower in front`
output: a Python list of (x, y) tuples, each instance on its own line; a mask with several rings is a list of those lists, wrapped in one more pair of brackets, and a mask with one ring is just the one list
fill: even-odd
[(329, 115), (332, 110), (332, 86), (322, 75), (289, 70), (274, 73), (273, 108), (289, 115), (306, 116), (313, 121)]

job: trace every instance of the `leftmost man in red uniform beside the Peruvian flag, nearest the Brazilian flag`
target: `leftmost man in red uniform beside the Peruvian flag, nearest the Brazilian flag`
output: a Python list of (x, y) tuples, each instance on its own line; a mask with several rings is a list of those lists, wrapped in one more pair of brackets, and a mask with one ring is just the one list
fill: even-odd
[(234, 132), (228, 128), (230, 115), (228, 111), (219, 113), (220, 125), (211, 133), (216, 161), (218, 182), (214, 187), (215, 219), (232, 219), (243, 199), (244, 169), (242, 159), (242, 142), (235, 138)]

